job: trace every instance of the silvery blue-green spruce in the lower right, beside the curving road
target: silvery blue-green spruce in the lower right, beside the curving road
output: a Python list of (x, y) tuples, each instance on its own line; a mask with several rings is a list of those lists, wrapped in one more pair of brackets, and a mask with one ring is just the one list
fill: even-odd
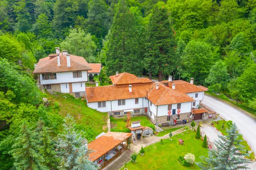
[(237, 132), (236, 124), (233, 124), (227, 130), (227, 133), (226, 136), (219, 135), (219, 140), (214, 142), (217, 150), (210, 150), (208, 157), (200, 157), (203, 162), (197, 162), (196, 164), (202, 170), (249, 169), (247, 165), (251, 161), (244, 159), (243, 156), (246, 156), (246, 153), (239, 152), (244, 151), (244, 146), (240, 144), (242, 140), (239, 139), (240, 134)]

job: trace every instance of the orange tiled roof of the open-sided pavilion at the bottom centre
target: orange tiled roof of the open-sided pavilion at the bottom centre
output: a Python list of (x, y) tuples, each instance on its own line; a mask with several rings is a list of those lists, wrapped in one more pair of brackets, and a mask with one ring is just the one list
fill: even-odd
[(131, 133), (108, 132), (96, 138), (88, 144), (88, 149), (93, 150), (93, 152), (89, 154), (89, 160), (97, 160), (111, 149), (117, 147), (122, 141), (128, 139), (131, 135)]

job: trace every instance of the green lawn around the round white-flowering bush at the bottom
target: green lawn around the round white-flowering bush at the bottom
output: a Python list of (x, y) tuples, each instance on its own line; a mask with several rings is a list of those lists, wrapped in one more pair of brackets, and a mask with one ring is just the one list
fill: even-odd
[[(184, 167), (177, 161), (179, 156), (185, 156), (187, 153), (194, 154), (195, 161), (201, 161), (199, 156), (208, 156), (208, 149), (202, 147), (201, 139), (195, 138), (195, 131), (188, 132), (184, 135), (178, 134), (178, 138), (173, 136), (172, 141), (169, 138), (163, 140), (163, 145), (160, 142), (151, 145), (150, 151), (147, 151), (146, 147), (144, 156), (139, 154), (136, 163), (130, 161), (127, 164), (128, 170), (200, 170), (195, 163), (190, 167)], [(180, 138), (184, 141), (183, 145), (178, 142)], [(156, 148), (153, 148), (154, 146)]]

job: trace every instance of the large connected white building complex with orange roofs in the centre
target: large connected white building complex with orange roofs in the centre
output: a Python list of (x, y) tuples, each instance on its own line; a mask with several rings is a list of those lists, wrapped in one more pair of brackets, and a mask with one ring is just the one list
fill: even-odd
[[(127, 72), (110, 76), (113, 85), (86, 87), (87, 105), (110, 115), (148, 115), (155, 124), (176, 124), (182, 120), (207, 120), (215, 115), (207, 112), (195, 113), (192, 109), (201, 107), (204, 91), (208, 89), (191, 82), (152, 82)], [(212, 112), (211, 112), (212, 113)]]

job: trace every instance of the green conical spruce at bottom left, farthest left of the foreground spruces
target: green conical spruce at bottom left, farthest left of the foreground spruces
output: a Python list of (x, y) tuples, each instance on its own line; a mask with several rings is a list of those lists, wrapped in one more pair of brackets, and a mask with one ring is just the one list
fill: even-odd
[(14, 166), (17, 170), (46, 170), (43, 165), (44, 158), (38, 153), (38, 144), (35, 133), (29, 130), (26, 121), (21, 125), (20, 135), (16, 138), (14, 149), (9, 153), (15, 159)]

